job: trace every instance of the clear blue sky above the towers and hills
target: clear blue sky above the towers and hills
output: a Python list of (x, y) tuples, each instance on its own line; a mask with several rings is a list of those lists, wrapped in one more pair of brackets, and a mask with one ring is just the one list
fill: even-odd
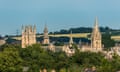
[(0, 35), (21, 34), (22, 25), (36, 25), (42, 33), (76, 27), (120, 28), (120, 0), (0, 0)]

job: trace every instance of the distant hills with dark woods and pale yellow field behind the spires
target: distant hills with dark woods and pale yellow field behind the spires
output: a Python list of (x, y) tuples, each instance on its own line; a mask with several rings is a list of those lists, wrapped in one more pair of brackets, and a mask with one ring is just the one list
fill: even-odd
[[(68, 41), (68, 38), (66, 37), (69, 37), (70, 35), (70, 31), (73, 32), (72, 36), (74, 38), (74, 40), (76, 42), (77, 39), (79, 38), (89, 38), (90, 37), (90, 33), (92, 32), (92, 27), (78, 27), (78, 28), (70, 28), (70, 29), (61, 29), (60, 31), (55, 31), (55, 32), (49, 32), (49, 36), (51, 37), (50, 39), (54, 41), (55, 40), (58, 40), (58, 41)], [(112, 29), (112, 28), (109, 28), (109, 27), (100, 27), (100, 31), (102, 33), (104, 32), (109, 32), (111, 33), (112, 35), (112, 39), (116, 40), (116, 41), (120, 41), (120, 29)], [(43, 36), (43, 33), (41, 34), (37, 34), (37, 38), (39, 41), (42, 41), (42, 37)], [(13, 40), (8, 40), (7, 42), (13, 42), (14, 40), (21, 40), (21, 35), (8, 35), (6, 36), (6, 38), (11, 38)], [(83, 41), (86, 41), (86, 40), (83, 40)], [(15, 41), (15, 42), (18, 42), (18, 41)], [(88, 41), (89, 42), (89, 41)]]

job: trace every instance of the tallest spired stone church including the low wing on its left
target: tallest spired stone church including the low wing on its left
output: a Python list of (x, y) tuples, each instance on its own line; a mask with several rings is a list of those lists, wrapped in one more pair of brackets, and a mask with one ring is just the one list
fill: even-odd
[(95, 19), (95, 25), (93, 28), (93, 32), (91, 33), (91, 45), (82, 46), (81, 51), (91, 51), (91, 52), (99, 52), (102, 51), (102, 35), (99, 31), (98, 20), (97, 17)]

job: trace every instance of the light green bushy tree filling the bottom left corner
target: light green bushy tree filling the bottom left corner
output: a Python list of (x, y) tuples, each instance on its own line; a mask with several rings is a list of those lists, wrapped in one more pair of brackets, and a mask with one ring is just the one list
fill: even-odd
[(22, 58), (17, 48), (5, 48), (0, 52), (0, 72), (21, 72)]

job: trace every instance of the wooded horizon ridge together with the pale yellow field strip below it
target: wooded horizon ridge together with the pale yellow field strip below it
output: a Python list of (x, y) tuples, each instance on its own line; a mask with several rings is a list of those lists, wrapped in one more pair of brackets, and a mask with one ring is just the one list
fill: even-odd
[[(92, 32), (91, 27), (78, 27), (78, 28), (70, 28), (70, 29), (61, 29), (60, 31), (49, 32), (50, 37), (69, 37), (70, 31), (72, 31), (73, 38), (88, 38), (90, 33)], [(120, 30), (112, 29), (109, 27), (100, 27), (100, 31), (102, 33), (109, 32), (112, 35), (112, 39), (120, 41)], [(37, 34), (37, 38), (42, 37), (43, 34)], [(10, 36), (12, 39), (21, 40), (20, 36)]]

